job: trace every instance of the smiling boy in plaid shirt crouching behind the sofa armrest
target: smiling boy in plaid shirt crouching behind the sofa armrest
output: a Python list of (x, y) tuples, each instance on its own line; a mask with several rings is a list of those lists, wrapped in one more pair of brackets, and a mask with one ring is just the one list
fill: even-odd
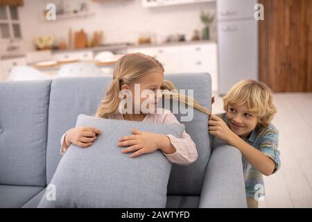
[[(223, 97), (225, 113), (211, 115), (209, 133), (241, 151), (248, 207), (258, 207), (264, 195), (262, 174), (270, 176), (281, 164), (278, 131), (270, 122), (277, 112), (264, 83), (243, 80)], [(214, 138), (213, 138), (214, 139)]]

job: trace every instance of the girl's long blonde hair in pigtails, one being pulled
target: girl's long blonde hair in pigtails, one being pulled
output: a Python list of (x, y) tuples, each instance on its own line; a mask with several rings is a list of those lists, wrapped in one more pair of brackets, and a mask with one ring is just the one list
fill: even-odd
[[(146, 56), (142, 53), (128, 53), (125, 56), (121, 57), (114, 67), (113, 81), (107, 87), (106, 94), (101, 101), (101, 105), (96, 111), (96, 117), (107, 118), (111, 114), (117, 112), (119, 107), (119, 92), (123, 84), (130, 85), (132, 83), (137, 83), (138, 80), (147, 74), (150, 74), (154, 71), (164, 72), (164, 67), (162, 64), (151, 56)], [(169, 80), (164, 80), (162, 83), (161, 89), (167, 89), (163, 92), (164, 95), (172, 96), (173, 99), (178, 99), (179, 101), (184, 101), (187, 105), (191, 105), (193, 101), (193, 107), (210, 114), (209, 110), (202, 107), (195, 99), (178, 94), (177, 92), (171, 92), (171, 90), (176, 89), (175, 85)]]

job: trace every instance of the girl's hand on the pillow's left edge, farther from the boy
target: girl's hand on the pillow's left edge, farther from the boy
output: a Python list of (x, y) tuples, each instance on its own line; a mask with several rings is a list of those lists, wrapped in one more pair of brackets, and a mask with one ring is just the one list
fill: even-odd
[(86, 148), (92, 146), (92, 142), (96, 140), (96, 135), (101, 135), (101, 133), (101, 130), (92, 127), (71, 128), (65, 136), (65, 142)]

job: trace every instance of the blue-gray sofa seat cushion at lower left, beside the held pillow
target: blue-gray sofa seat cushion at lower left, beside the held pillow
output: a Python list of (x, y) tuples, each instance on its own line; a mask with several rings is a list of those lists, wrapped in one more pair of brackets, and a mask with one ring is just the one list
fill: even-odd
[(44, 187), (0, 185), (0, 208), (22, 207)]

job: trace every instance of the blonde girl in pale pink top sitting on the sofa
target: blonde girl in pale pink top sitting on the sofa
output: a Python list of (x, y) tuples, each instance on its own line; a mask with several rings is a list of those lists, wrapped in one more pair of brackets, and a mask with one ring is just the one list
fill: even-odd
[[(116, 62), (113, 79), (111, 85), (107, 88), (105, 98), (101, 101), (101, 105), (96, 111), (96, 117), (160, 124), (179, 123), (171, 111), (157, 108), (157, 101), (159, 100), (159, 94), (156, 93), (159, 90), (157, 89), (168, 89), (170, 91), (175, 89), (175, 86), (170, 81), (164, 80), (164, 68), (155, 58), (142, 53), (127, 54)], [(148, 103), (148, 106), (153, 106), (155, 108), (154, 110), (157, 110), (156, 113), (146, 113), (139, 110), (139, 112), (123, 114), (123, 112), (119, 111), (119, 104), (121, 102), (119, 92), (125, 90), (130, 92), (127, 96), (135, 95), (135, 84), (140, 85), (141, 92), (143, 90), (150, 90), (150, 92), (155, 93), (155, 102)], [(184, 99), (187, 104), (189, 104), (189, 101), (192, 101), (193, 107), (207, 114), (210, 113), (199, 105), (197, 101), (188, 96), (174, 93), (171, 93), (171, 95), (173, 95), (173, 99)], [(132, 100), (133, 111), (137, 107), (141, 108), (141, 104), (144, 101), (146, 99), (141, 98), (141, 96), (139, 105), (137, 101)], [(70, 144), (75, 144), (81, 148), (92, 146), (96, 135), (100, 135), (101, 133), (96, 128), (71, 128), (67, 130), (62, 135), (61, 154), (63, 155), (67, 151)], [(198, 157), (196, 145), (185, 131), (182, 133), (182, 138), (177, 138), (173, 135), (161, 135), (132, 129), (132, 135), (120, 138), (118, 146), (128, 146), (128, 148), (122, 149), (122, 153), (133, 152), (130, 157), (137, 157), (144, 153), (151, 153), (160, 149), (169, 161), (181, 165), (191, 164)]]

